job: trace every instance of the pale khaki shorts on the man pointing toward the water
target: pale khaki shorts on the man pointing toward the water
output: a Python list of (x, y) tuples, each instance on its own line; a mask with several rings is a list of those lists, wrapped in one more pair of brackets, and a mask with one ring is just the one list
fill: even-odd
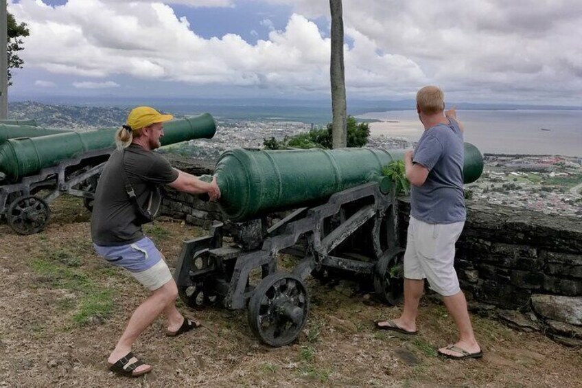
[(444, 297), (461, 291), (454, 269), (455, 243), (465, 222), (428, 224), (410, 217), (404, 253), (404, 277), (427, 279), (432, 290)]

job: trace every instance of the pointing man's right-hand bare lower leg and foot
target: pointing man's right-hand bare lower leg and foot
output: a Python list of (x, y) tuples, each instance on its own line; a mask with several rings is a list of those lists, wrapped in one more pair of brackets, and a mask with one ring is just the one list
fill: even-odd
[[(443, 301), (458, 328), (458, 342), (454, 345), (469, 353), (480, 352), (481, 348), (475, 339), (469, 311), (467, 310), (467, 300), (463, 291), (459, 291), (450, 297), (443, 297)], [(439, 351), (452, 356), (461, 356), (458, 352), (447, 350), (445, 347), (442, 347)]]

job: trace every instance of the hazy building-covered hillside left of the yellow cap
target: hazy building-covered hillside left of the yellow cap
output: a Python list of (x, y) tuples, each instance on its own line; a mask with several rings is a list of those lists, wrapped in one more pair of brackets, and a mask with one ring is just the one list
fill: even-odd
[(106, 106), (49, 105), (31, 101), (8, 104), (9, 119), (36, 119), (39, 126), (71, 130), (120, 126), (129, 111)]

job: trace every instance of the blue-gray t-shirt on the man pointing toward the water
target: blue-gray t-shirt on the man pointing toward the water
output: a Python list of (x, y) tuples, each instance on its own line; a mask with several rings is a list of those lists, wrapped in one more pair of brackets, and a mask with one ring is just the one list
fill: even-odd
[(429, 224), (451, 224), (466, 217), (463, 194), (463, 133), (458, 123), (438, 124), (422, 134), (412, 163), (428, 168), (426, 181), (410, 189), (410, 215)]

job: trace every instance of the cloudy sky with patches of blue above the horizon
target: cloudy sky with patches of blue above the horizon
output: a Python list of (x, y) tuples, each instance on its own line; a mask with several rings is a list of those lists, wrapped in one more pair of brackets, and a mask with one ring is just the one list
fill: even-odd
[[(343, 0), (348, 98), (579, 106), (580, 0)], [(329, 0), (8, 0), (10, 95), (329, 98)]]

